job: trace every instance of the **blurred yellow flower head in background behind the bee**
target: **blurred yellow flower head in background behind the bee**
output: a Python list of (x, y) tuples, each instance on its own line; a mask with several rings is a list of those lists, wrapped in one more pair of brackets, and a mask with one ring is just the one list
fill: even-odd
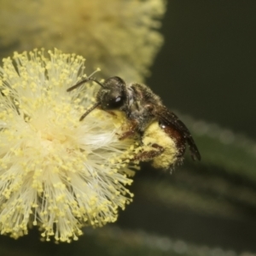
[[(0, 47), (54, 47), (86, 56), (89, 72), (143, 81), (163, 43), (166, 0), (0, 0)], [(13, 47), (12, 47), (13, 46)]]

